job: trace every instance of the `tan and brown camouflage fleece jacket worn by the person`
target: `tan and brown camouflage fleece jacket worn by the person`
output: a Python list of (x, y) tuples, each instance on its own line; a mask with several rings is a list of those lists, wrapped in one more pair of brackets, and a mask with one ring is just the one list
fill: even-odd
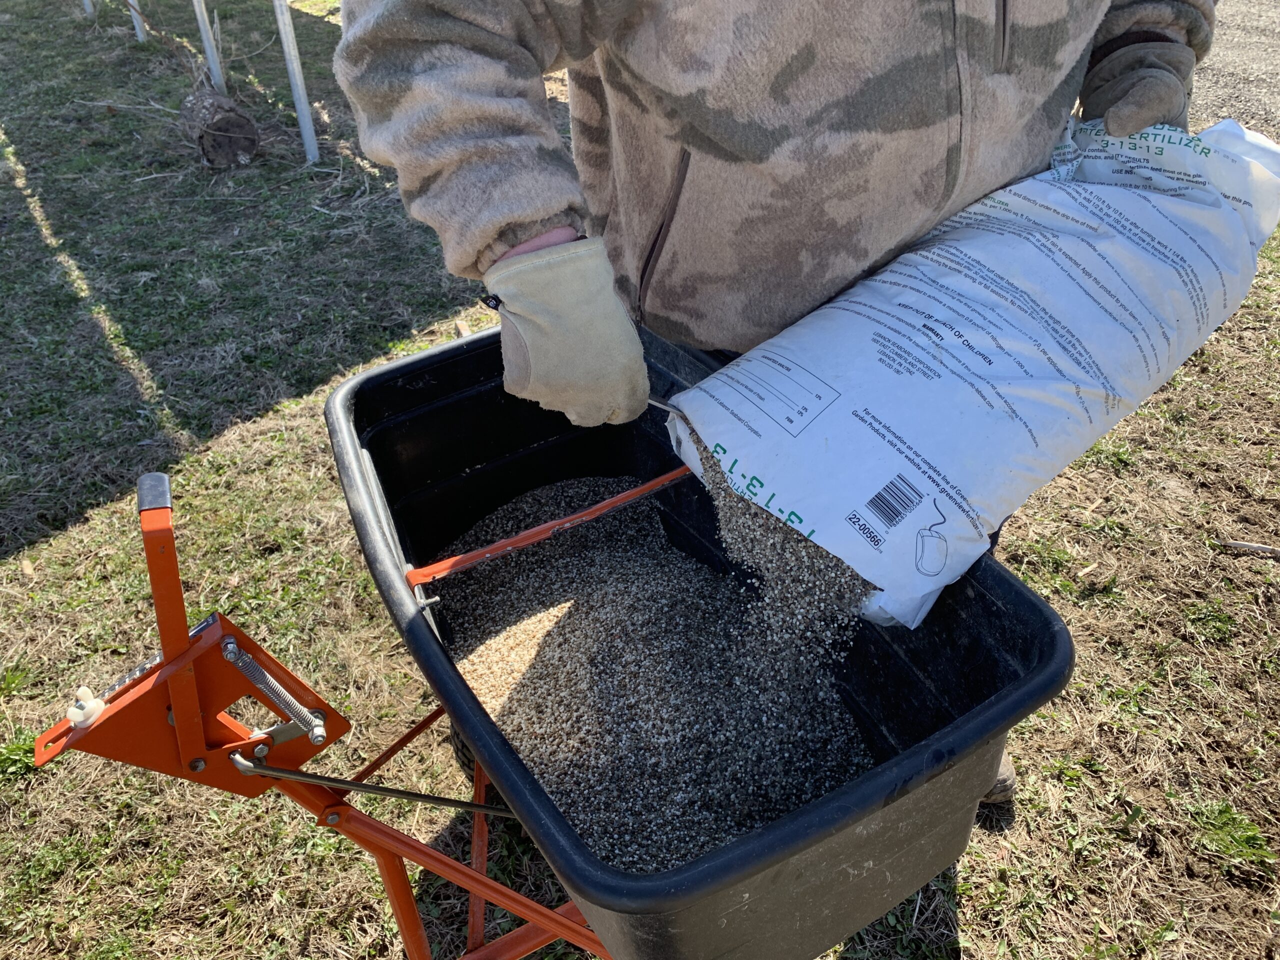
[[(745, 351), (1043, 169), (1089, 64), (1213, 0), (344, 0), (335, 69), (449, 270), (602, 236), (637, 323)], [(568, 67), (573, 156), (543, 73)]]

